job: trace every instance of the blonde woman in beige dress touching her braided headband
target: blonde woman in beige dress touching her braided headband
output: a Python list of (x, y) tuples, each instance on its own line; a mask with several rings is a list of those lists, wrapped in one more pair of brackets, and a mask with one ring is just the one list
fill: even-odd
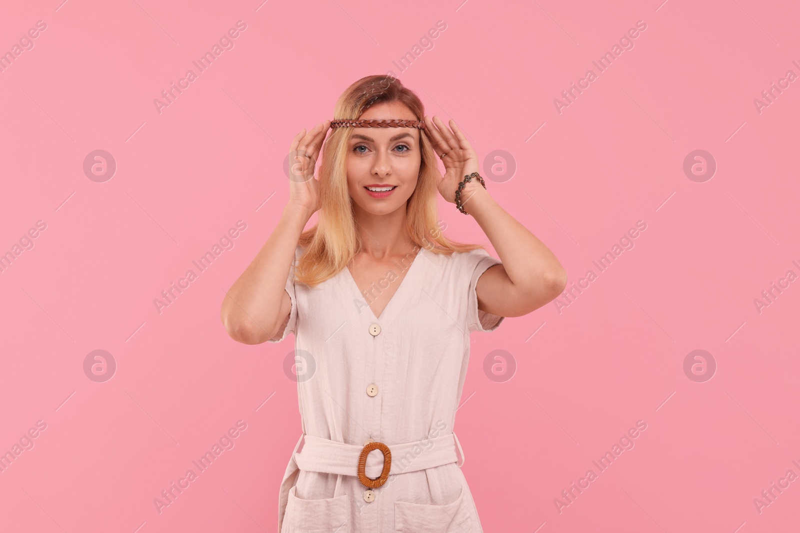
[[(303, 435), (278, 531), (482, 531), (453, 432), (470, 332), (542, 307), (566, 272), (490, 196), (458, 125), (398, 79), (358, 80), (334, 116), (294, 137), (289, 203), (222, 303), (238, 342), (295, 335)], [(440, 233), (437, 190), (500, 261)]]

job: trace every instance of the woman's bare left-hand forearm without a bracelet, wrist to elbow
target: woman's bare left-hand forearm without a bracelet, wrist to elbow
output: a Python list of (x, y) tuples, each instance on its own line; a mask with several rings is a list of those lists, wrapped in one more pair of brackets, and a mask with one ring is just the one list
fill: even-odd
[(282, 305), (298, 239), (310, 218), (287, 205), (274, 231), (222, 301), (222, 324), (239, 342), (269, 339), (286, 318)]

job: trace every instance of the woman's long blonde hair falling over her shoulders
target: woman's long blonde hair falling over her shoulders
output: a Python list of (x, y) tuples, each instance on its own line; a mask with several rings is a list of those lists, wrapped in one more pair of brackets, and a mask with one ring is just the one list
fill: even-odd
[[(425, 116), (419, 97), (391, 76), (367, 76), (348, 87), (339, 97), (334, 120), (356, 119), (370, 105), (399, 101), (414, 113), (418, 121)], [(440, 173), (436, 153), (420, 129), (421, 161), (414, 193), (406, 203), (408, 235), (418, 246), (433, 253), (468, 252), (481, 245), (448, 240), (437, 221), (436, 181)], [(361, 251), (362, 241), (356, 230), (353, 201), (347, 189), (347, 154), (353, 128), (334, 128), (322, 145), (319, 167), (320, 209), (317, 224), (304, 231), (298, 245), (303, 249), (295, 267), (296, 280), (314, 286), (335, 276)]]

